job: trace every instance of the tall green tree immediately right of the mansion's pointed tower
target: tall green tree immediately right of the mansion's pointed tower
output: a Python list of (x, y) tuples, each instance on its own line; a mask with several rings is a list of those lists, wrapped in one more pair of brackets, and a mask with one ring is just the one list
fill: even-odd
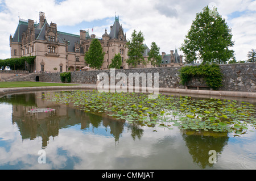
[(129, 56), (128, 60), (126, 60), (127, 64), (136, 68), (139, 64), (146, 64), (146, 60), (143, 58), (143, 53), (146, 47), (143, 45), (144, 36), (141, 31), (138, 32), (134, 30), (131, 34), (131, 40), (127, 42), (127, 48)]

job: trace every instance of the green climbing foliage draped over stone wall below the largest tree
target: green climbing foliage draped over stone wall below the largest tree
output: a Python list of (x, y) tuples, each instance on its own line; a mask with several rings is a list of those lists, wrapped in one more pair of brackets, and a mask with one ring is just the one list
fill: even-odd
[(216, 64), (184, 66), (180, 69), (180, 78), (183, 85), (192, 77), (203, 77), (207, 85), (214, 90), (222, 86), (222, 73), (220, 67)]

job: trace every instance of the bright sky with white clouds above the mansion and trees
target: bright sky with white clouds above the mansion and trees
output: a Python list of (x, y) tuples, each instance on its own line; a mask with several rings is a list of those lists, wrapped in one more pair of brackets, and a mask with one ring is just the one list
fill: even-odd
[[(21, 19), (39, 22), (39, 11), (46, 13), (48, 23), (57, 30), (79, 35), (92, 28), (96, 36), (108, 33), (119, 15), (127, 38), (133, 30), (142, 31), (145, 44), (152, 41), (160, 53), (181, 47), (196, 13), (215, 3), (222, 18), (232, 28), (237, 60), (256, 49), (256, 1), (253, 0), (0, 0), (0, 59), (10, 58), (9, 37), (14, 35)], [(182, 52), (179, 52), (182, 54)]]

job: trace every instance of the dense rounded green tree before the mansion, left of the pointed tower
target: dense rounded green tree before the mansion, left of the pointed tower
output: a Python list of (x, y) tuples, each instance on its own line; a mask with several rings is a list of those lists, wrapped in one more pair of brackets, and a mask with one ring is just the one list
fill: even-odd
[(101, 43), (98, 39), (93, 39), (88, 52), (85, 53), (84, 60), (92, 69), (100, 69), (104, 61), (105, 52), (103, 52)]

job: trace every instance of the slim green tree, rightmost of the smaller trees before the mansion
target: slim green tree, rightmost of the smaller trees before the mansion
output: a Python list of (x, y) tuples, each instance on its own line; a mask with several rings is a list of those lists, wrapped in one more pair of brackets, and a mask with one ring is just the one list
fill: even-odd
[(150, 52), (148, 53), (147, 60), (154, 67), (159, 66), (162, 61), (162, 56), (160, 56), (159, 50), (160, 50), (160, 48), (156, 45), (156, 43), (152, 42), (151, 49), (150, 49)]

